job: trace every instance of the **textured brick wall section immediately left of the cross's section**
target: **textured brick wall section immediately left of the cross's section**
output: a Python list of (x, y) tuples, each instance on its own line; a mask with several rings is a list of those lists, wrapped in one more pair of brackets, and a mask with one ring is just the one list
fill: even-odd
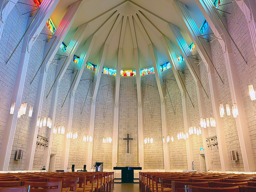
[[(112, 143), (102, 143), (103, 137), (112, 137), (113, 132), (113, 102), (115, 93), (115, 76), (101, 74), (100, 85), (96, 97), (94, 135), (92, 147), (92, 165), (94, 162), (104, 162), (105, 169), (112, 167)], [(106, 84), (108, 85), (102, 87)], [(100, 88), (102, 87), (102, 88)], [(107, 108), (104, 119), (104, 111), (106, 106), (108, 93)]]

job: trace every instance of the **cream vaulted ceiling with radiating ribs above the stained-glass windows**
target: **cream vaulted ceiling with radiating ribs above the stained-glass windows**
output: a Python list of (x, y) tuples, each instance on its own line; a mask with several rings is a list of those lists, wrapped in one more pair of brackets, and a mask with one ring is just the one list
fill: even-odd
[[(77, 0), (60, 0), (59, 4), (57, 5), (51, 16), (51, 19), (55, 26), (59, 25), (62, 17), (68, 9), (68, 6), (76, 1)], [(200, 27), (202, 22), (204, 21), (204, 17), (199, 11), (199, 8), (197, 7), (194, 0), (181, 0), (181, 2), (187, 5), (191, 16), (195, 20), (197, 26)], [(110, 9), (112, 10), (108, 12), (108, 10)], [(140, 68), (153, 66), (148, 49), (148, 38), (156, 47), (159, 63), (162, 64), (168, 60), (164, 51), (164, 47), (158, 36), (157, 29), (160, 30), (165, 36), (167, 36), (171, 40), (176, 55), (180, 54), (174, 42), (175, 39), (172, 35), (170, 28), (168, 27), (167, 23), (160, 18), (163, 18), (164, 20), (167, 20), (170, 23), (178, 26), (187, 44), (189, 45), (191, 43), (191, 39), (185, 29), (185, 23), (178, 14), (172, 0), (83, 0), (78, 9), (78, 14), (76, 15), (75, 21), (64, 39), (64, 43), (67, 45), (69, 44), (72, 37), (74, 36), (74, 33), (76, 32), (76, 29), (80, 25), (106, 12), (99, 18), (89, 23), (89, 28), (86, 29), (84, 39), (76, 51), (76, 55), (79, 56), (83, 50), (84, 42), (86, 41), (86, 39), (91, 36), (106, 20), (108, 20), (108, 18), (115, 11), (117, 11), (116, 13), (118, 14), (118, 16), (112, 16), (110, 19), (111, 22), (107, 26), (104, 25), (99, 30), (100, 34), (96, 38), (96, 41), (92, 48), (92, 52), (88, 59), (92, 63), (97, 63), (100, 48), (104, 44), (106, 38), (108, 37), (108, 34), (110, 33), (115, 23), (117, 27), (115, 29), (112, 29), (115, 31), (108, 44), (108, 51), (104, 62), (104, 66), (106, 67), (116, 68), (120, 35), (121, 31), (125, 30), (121, 68), (135, 69), (132, 41), (133, 28), (131, 29), (132, 23), (134, 25), (134, 31), (136, 34), (137, 44), (139, 48)], [(150, 12), (159, 16), (160, 18), (157, 18)], [(122, 29), (123, 22), (126, 23), (125, 29)], [(150, 22), (153, 25), (150, 24)]]

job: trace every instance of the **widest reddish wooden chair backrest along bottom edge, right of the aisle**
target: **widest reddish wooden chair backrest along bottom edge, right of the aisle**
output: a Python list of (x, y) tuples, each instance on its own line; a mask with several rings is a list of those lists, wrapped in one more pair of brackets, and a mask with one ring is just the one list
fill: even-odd
[[(241, 187), (243, 188), (243, 187)], [(189, 185), (188, 192), (240, 192), (240, 187), (226, 187), (226, 188), (207, 188), (207, 187), (196, 187)]]

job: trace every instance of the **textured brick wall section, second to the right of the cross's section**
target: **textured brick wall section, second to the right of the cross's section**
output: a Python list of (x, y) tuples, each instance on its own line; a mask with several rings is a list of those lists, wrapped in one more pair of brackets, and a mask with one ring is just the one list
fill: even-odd
[[(167, 124), (168, 124), (168, 134), (170, 137), (173, 135), (173, 142), (169, 142), (170, 151), (170, 168), (171, 169), (188, 169), (187, 163), (187, 153), (186, 153), (186, 141), (178, 140), (177, 134), (184, 131), (184, 121), (183, 121), (183, 111), (181, 94), (178, 84), (175, 80), (175, 76), (172, 72), (172, 68), (165, 70), (163, 73), (163, 78), (167, 79), (167, 87), (165, 87), (166, 92), (166, 111), (167, 111)], [(172, 80), (169, 80), (172, 79)], [(174, 80), (174, 81), (173, 81)], [(172, 100), (172, 104), (168, 95), (168, 91)], [(175, 115), (173, 113), (173, 108)]]

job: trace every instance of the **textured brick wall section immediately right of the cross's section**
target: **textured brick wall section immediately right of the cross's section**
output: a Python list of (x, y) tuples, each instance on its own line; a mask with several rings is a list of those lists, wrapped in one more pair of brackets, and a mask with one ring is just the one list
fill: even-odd
[[(148, 85), (149, 100), (148, 101)], [(144, 137), (153, 137), (153, 143), (144, 144), (144, 167), (145, 169), (163, 169), (163, 133), (161, 122), (161, 104), (155, 74), (141, 77), (142, 99), (143, 99), (143, 126)], [(151, 118), (150, 106), (153, 118)]]

